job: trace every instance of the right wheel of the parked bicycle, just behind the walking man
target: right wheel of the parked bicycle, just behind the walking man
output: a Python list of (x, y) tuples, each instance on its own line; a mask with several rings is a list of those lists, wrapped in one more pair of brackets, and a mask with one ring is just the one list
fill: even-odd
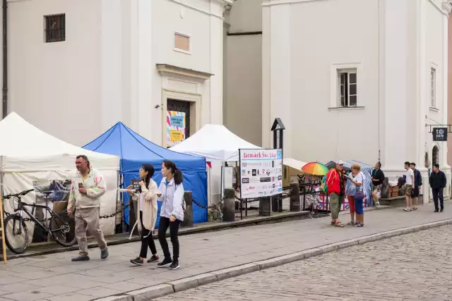
[(59, 212), (52, 216), (50, 231), (54, 240), (63, 247), (71, 247), (76, 243), (76, 222), (66, 212)]

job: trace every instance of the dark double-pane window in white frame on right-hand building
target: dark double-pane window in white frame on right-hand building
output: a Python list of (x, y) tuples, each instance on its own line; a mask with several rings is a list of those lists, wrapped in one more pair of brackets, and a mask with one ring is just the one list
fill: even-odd
[(338, 100), (341, 107), (357, 106), (357, 70), (338, 70)]

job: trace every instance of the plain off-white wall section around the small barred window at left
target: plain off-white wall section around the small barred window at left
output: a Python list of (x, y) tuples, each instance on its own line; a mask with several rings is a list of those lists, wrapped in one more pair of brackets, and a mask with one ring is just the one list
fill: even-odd
[[(44, 43), (44, 16), (57, 13), (66, 41)], [(8, 2), (8, 111), (76, 145), (100, 133), (100, 16), (101, 1)]]

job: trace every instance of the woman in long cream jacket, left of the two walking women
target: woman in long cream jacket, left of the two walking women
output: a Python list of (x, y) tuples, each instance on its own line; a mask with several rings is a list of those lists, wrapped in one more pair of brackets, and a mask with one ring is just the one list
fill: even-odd
[[(153, 240), (153, 231), (155, 222), (157, 221), (157, 195), (160, 195), (160, 190), (153, 180), (154, 166), (150, 164), (143, 164), (140, 169), (140, 188), (138, 192), (131, 190), (129, 186), (129, 194), (133, 201), (137, 202), (138, 212), (136, 216), (135, 226), (138, 226), (138, 232), (141, 233), (141, 251), (140, 256), (136, 259), (131, 259), (132, 264), (139, 266), (143, 265), (144, 259), (148, 255), (148, 247), (153, 256), (148, 260), (149, 262), (157, 262), (159, 259), (157, 249)], [(135, 228), (133, 226), (133, 228)], [(133, 231), (132, 231), (133, 232)]]

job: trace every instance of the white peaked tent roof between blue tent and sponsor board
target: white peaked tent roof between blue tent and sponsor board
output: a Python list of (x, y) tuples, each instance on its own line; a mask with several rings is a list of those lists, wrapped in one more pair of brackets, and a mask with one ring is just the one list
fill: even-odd
[(234, 135), (225, 125), (206, 124), (171, 149), (174, 152), (203, 156), (208, 160), (239, 161), (239, 149), (261, 148)]

